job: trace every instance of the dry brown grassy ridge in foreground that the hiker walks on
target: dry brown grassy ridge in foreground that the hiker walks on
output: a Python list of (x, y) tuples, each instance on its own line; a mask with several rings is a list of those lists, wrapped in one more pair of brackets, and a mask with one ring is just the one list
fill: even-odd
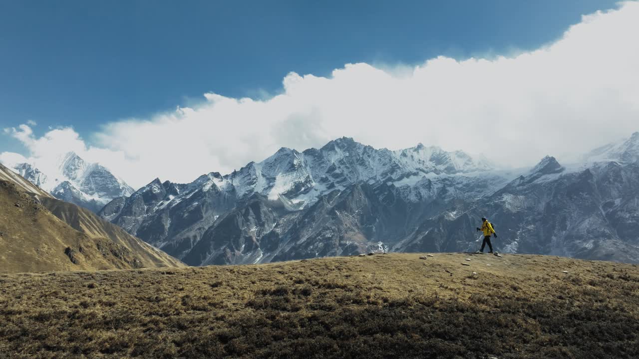
[(638, 266), (419, 256), (3, 275), (0, 358), (639, 353)]

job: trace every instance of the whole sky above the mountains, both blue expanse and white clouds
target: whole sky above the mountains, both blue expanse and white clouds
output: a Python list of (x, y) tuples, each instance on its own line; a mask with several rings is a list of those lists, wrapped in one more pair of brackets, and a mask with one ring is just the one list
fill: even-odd
[(139, 187), (342, 136), (577, 161), (639, 130), (636, 19), (638, 1), (4, 1), (0, 162), (73, 150)]

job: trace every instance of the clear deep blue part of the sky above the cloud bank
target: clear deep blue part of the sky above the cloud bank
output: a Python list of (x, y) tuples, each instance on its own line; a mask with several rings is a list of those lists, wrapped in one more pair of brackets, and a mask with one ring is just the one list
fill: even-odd
[[(1, 127), (87, 137), (213, 91), (281, 91), (288, 72), (507, 54), (614, 1), (3, 1)], [(24, 151), (4, 136), (0, 151)]]

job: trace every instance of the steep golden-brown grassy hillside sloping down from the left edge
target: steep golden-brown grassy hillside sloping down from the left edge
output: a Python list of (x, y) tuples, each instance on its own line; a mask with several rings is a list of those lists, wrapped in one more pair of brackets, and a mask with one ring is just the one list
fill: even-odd
[(0, 272), (184, 266), (15, 173), (4, 180), (8, 173), (0, 165)]

